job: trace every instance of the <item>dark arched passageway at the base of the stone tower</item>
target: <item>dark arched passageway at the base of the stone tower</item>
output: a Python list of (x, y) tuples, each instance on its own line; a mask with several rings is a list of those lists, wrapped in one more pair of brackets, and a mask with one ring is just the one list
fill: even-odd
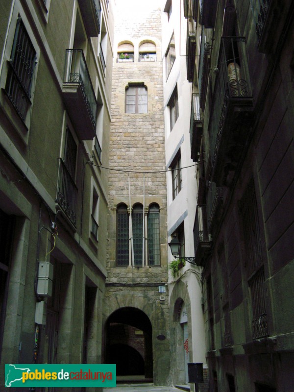
[(152, 326), (147, 315), (133, 307), (113, 312), (106, 322), (105, 361), (117, 365), (117, 376), (153, 378)]

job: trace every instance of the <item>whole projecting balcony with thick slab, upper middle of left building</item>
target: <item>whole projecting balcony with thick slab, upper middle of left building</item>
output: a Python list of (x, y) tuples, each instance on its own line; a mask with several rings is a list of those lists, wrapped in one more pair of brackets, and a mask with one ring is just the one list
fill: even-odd
[(93, 140), (97, 100), (82, 49), (66, 49), (62, 93), (79, 139)]

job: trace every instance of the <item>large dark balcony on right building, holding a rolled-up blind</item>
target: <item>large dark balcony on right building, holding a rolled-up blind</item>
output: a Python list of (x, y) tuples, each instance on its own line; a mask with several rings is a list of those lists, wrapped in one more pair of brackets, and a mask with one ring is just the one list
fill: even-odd
[(252, 92), (244, 37), (222, 37), (208, 134), (211, 178), (218, 186), (230, 181), (248, 139)]

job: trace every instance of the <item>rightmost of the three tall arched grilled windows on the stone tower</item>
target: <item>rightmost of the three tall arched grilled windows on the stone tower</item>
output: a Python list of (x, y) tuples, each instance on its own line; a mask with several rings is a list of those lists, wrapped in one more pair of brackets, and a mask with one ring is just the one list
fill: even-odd
[(148, 264), (150, 266), (160, 265), (160, 229), (159, 229), (159, 207), (153, 204), (149, 207), (148, 219)]

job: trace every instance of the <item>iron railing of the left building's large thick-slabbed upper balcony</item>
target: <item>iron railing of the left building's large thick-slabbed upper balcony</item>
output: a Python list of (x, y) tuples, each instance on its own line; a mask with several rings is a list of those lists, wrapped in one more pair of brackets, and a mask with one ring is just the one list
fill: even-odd
[(82, 49), (66, 49), (64, 83), (79, 84), (93, 126), (96, 126), (97, 100)]

